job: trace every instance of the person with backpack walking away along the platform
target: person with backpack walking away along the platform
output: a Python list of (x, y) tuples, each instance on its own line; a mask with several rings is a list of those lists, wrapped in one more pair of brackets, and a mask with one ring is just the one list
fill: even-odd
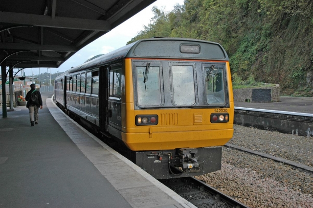
[(36, 85), (31, 84), (30, 85), (30, 91), (27, 92), (25, 100), (26, 108), (29, 109), (29, 118), (30, 118), (30, 126), (34, 126), (35, 124), (38, 124), (38, 110), (43, 109), (43, 100), (41, 98), (41, 93), (36, 90)]

